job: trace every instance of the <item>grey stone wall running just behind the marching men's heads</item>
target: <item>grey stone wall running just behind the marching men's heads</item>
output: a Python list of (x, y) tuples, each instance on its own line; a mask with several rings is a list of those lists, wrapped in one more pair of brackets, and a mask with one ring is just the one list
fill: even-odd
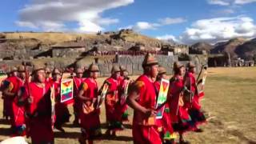
[[(156, 55), (155, 56), (158, 59), (159, 65), (163, 66), (167, 70), (167, 74), (173, 73), (173, 64), (175, 61), (178, 61), (177, 55)], [(66, 58), (64, 58), (66, 59)], [(70, 58), (69, 60), (66, 59), (59, 59), (58, 61), (50, 60), (50, 59), (34, 59), (30, 60), (30, 62), (43, 62), (47, 63), (47, 66), (50, 66), (53, 68), (53, 66), (56, 66), (58, 68), (64, 69), (66, 66), (70, 66), (72, 63), (75, 63), (75, 58)], [(137, 56), (131, 56), (131, 55), (119, 55), (117, 60), (111, 60), (106, 62), (99, 62), (99, 70), (100, 70), (100, 76), (110, 76), (110, 71), (112, 66), (119, 65), (119, 66), (125, 66), (126, 70), (128, 70), (130, 75), (139, 75), (142, 74), (142, 61), (144, 59), (144, 55), (137, 55)], [(194, 62), (194, 64), (197, 66), (196, 70), (197, 72), (200, 71), (202, 64), (207, 63), (205, 61), (205, 56), (202, 54), (198, 55), (190, 55), (190, 61)], [(47, 61), (46, 61), (47, 60)], [(89, 61), (89, 60), (87, 60)], [(94, 59), (91, 59), (90, 62), (82, 62), (81, 66), (88, 66), (88, 63), (94, 62)], [(189, 61), (181, 61), (181, 63), (186, 66), (186, 63)], [(4, 61), (0, 62), (0, 65), (6, 64), (7, 66), (17, 66), (18, 64), (21, 64), (21, 61)]]

